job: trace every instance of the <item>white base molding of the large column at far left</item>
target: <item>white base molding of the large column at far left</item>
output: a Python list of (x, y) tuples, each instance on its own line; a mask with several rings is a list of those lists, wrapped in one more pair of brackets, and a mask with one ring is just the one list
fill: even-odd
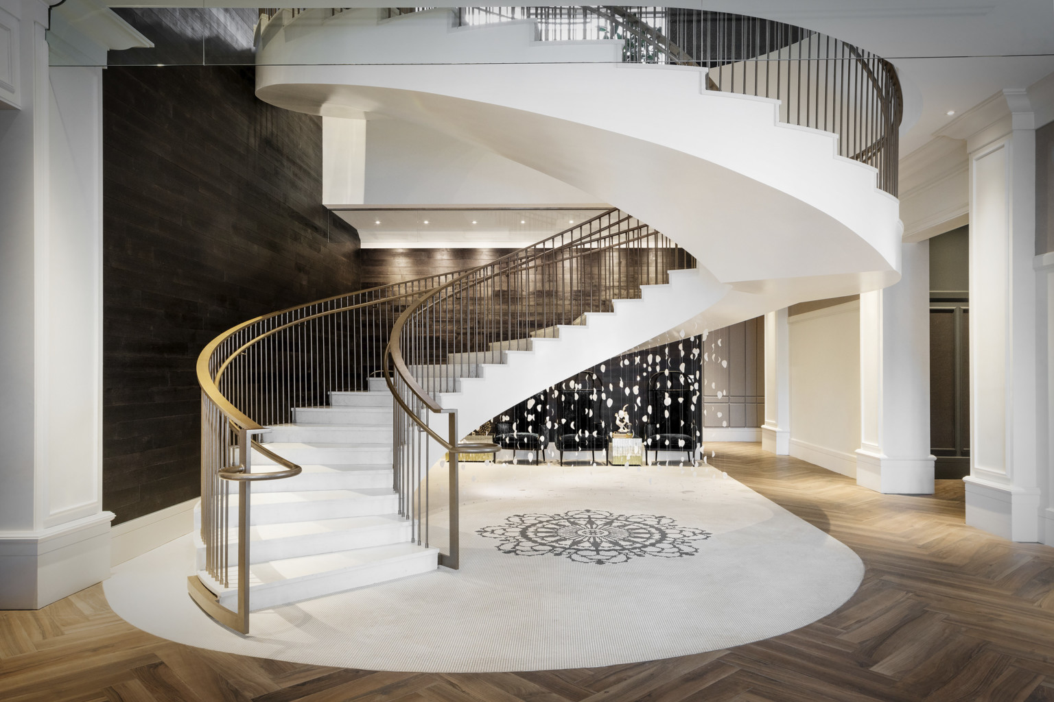
[(100, 512), (40, 531), (0, 531), (0, 609), (39, 609), (110, 577), (110, 522)]

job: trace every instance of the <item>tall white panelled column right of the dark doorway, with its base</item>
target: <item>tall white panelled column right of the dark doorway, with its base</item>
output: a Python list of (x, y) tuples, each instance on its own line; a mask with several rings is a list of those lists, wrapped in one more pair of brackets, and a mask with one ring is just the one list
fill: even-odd
[(1024, 91), (1003, 94), (1010, 129), (968, 142), (971, 454), (963, 480), (968, 524), (1036, 541), (1035, 119)]

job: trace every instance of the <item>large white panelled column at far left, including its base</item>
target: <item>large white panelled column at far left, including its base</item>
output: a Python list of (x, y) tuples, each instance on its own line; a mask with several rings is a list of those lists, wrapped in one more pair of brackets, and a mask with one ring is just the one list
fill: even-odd
[[(67, 12), (120, 22), (97, 2), (87, 9), (80, 2)], [(114, 515), (102, 509), (105, 47), (94, 65), (51, 67), (47, 5), (23, 0), (5, 9), (18, 20), (20, 108), (0, 111), (0, 609), (25, 609), (110, 575)]]

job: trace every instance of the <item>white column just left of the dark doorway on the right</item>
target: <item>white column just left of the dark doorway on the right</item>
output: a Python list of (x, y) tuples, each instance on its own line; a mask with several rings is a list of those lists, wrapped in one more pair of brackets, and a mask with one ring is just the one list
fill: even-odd
[(857, 484), (929, 495), (930, 243), (901, 246), (900, 281), (860, 296)]

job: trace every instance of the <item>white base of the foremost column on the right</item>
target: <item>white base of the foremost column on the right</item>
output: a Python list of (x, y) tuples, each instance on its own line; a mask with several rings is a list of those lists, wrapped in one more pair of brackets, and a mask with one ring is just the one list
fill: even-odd
[(976, 476), (967, 476), (962, 482), (967, 484), (967, 524), (1011, 541), (1039, 541), (1038, 487), (1006, 485)]

